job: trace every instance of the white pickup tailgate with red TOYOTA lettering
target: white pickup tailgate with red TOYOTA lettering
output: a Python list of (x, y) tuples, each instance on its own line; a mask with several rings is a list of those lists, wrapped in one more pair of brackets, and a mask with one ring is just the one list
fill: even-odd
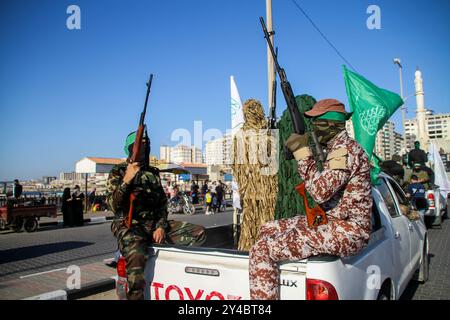
[[(155, 300), (249, 299), (248, 254), (204, 248), (154, 248), (145, 277)], [(305, 299), (306, 263), (281, 267), (281, 299)]]

